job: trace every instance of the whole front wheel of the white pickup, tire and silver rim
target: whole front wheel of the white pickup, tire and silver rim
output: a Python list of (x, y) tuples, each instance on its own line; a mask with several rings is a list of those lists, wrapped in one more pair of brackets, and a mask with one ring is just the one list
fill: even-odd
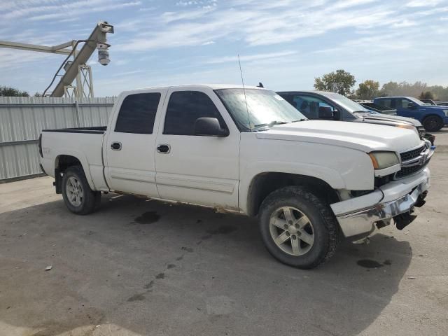
[(260, 231), (274, 258), (302, 269), (329, 260), (339, 241), (339, 227), (328, 205), (302, 187), (281, 188), (266, 197)]

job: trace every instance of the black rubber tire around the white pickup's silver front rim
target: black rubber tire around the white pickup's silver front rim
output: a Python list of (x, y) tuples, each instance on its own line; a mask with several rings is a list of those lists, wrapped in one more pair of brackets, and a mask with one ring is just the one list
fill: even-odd
[[(277, 211), (283, 207), (298, 209), (299, 213), (309, 219), (311, 230), (309, 230), (309, 227), (303, 230), (307, 229), (308, 232), (311, 231), (313, 233), (314, 241), (312, 245), (301, 241), (301, 238), (298, 236), (300, 235), (299, 232), (291, 235), (288, 232), (289, 229), (278, 229), (278, 225), (274, 227), (270, 224), (271, 218), (276, 218)], [(282, 221), (281, 218), (278, 219)], [(335, 255), (339, 242), (339, 225), (337, 224), (336, 218), (328, 204), (305, 188), (290, 186), (269, 194), (261, 204), (259, 221), (262, 240), (265, 243), (267, 251), (274, 258), (286, 265), (301, 269), (311, 269), (330, 260)], [(283, 233), (286, 233), (290, 237), (290, 253), (294, 253), (292, 246), (293, 238), (298, 241), (298, 244), (305, 246), (303, 249), (300, 247), (300, 251), (306, 251), (307, 248), (309, 250), (302, 255), (292, 255), (283, 251), (274, 241), (274, 237), (272, 236), (272, 230), (274, 229), (279, 230), (278, 234), (281, 233), (281, 230), (284, 230)], [(287, 244), (288, 241), (281, 246), (285, 245), (283, 248), (288, 248)]]

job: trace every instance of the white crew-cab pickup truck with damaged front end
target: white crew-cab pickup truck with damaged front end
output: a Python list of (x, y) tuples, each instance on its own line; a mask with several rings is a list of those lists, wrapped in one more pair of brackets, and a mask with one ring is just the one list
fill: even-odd
[(260, 87), (120, 94), (107, 127), (43, 130), (41, 168), (75, 214), (101, 192), (257, 216), (269, 253), (312, 268), (424, 204), (433, 155), (414, 130), (307, 120)]

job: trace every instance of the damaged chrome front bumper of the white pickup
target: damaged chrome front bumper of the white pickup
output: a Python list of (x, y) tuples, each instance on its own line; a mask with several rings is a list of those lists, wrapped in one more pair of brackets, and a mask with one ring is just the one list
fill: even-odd
[[(379, 221), (390, 221), (395, 216), (400, 214), (409, 213), (414, 204), (419, 200), (420, 195), (426, 192), (429, 188), (429, 171), (425, 169), (425, 172), (428, 172), (426, 176), (421, 176), (418, 180), (420, 183), (416, 186), (412, 186), (409, 193), (402, 195), (395, 200), (390, 199), (391, 195), (396, 195), (395, 190), (402, 186), (389, 186), (389, 188), (385, 188), (384, 192), (384, 203), (373, 204), (369, 207), (362, 207), (355, 210), (350, 210), (346, 212), (341, 212), (342, 207), (340, 204), (344, 204), (348, 201), (343, 201), (339, 203), (332, 204), (331, 207), (333, 211), (335, 211), (335, 215), (339, 225), (341, 227), (342, 232), (345, 237), (351, 237), (355, 235), (361, 235), (365, 233), (372, 232), (374, 230), (374, 224)], [(381, 193), (379, 190), (374, 191), (371, 194)], [(367, 199), (369, 195), (356, 197), (360, 199), (361, 197), (365, 197)], [(375, 195), (377, 196), (377, 195)], [(381, 195), (382, 197), (382, 195)], [(381, 198), (380, 197), (380, 198)], [(379, 199), (378, 199), (379, 201)], [(377, 202), (378, 202), (377, 201)], [(353, 202), (352, 202), (353, 203)], [(355, 202), (356, 203), (356, 202)], [(346, 205), (346, 204), (344, 204)]]

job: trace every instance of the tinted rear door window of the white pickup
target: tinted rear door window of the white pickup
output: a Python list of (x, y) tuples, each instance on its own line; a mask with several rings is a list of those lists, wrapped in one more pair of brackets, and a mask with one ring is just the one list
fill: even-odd
[(152, 134), (161, 94), (130, 94), (123, 100), (115, 132)]

